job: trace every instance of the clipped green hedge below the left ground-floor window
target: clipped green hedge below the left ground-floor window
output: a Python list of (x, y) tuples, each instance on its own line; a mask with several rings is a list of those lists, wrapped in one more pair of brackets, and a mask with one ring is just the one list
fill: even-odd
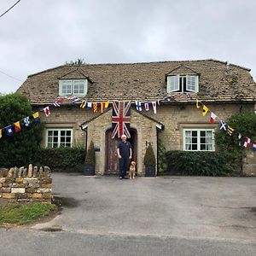
[[(41, 148), (38, 153), (36, 165), (49, 166), (56, 171), (73, 171), (80, 169), (85, 159), (85, 149), (76, 148)], [(81, 166), (81, 168), (78, 168)]]

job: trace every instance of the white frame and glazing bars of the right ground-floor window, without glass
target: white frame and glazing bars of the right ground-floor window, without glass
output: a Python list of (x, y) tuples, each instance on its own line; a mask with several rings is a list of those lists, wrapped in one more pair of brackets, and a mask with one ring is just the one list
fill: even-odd
[[(190, 141), (189, 143), (188, 143), (188, 141), (186, 140), (186, 131), (191, 131), (191, 133), (192, 133), (192, 131), (196, 131), (197, 132), (197, 135), (196, 135), (196, 143), (193, 143), (192, 141)], [(206, 136), (206, 149), (201, 149), (201, 145), (203, 145), (202, 143), (201, 143), (201, 131), (206, 131), (206, 133), (207, 133), (207, 131), (212, 131), (212, 137), (207, 137)], [(183, 129), (183, 150), (184, 151), (215, 151), (215, 138), (214, 138), (214, 135), (215, 135), (215, 129), (207, 129), (207, 128), (199, 128), (199, 129), (197, 129), (197, 128), (184, 128)], [(189, 138), (189, 137), (188, 137)], [(190, 137), (191, 138), (191, 137)], [(211, 142), (212, 143), (208, 143), (209, 145), (212, 145), (212, 149), (207, 149), (207, 138), (209, 138), (209, 140), (211, 140)], [(192, 149), (192, 147), (191, 147), (191, 149), (189, 149), (189, 148), (186, 148), (186, 145), (191, 145), (192, 146), (192, 144), (196, 144), (197, 145), (197, 149), (195, 150), (195, 149)]]

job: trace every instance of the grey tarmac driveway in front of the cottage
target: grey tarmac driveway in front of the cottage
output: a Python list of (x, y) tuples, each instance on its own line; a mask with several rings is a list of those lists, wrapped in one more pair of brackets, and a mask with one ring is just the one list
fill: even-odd
[(255, 177), (85, 177), (54, 173), (61, 215), (32, 228), (87, 235), (256, 241)]

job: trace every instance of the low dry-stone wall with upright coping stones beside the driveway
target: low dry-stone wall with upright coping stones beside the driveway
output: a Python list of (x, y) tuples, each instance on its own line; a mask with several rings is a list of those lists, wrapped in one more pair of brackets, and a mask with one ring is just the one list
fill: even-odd
[(0, 203), (42, 202), (51, 204), (52, 178), (48, 166), (0, 170)]

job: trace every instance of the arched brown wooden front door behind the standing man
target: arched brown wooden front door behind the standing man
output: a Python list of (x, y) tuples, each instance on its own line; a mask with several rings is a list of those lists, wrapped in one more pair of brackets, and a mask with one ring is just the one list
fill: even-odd
[[(131, 138), (127, 139), (131, 143), (132, 149), (132, 160), (137, 162), (137, 131), (131, 129)], [(106, 131), (106, 170), (105, 174), (114, 174), (119, 173), (119, 159), (116, 153), (116, 148), (118, 146), (119, 139), (112, 138), (112, 131), (109, 129)]]

